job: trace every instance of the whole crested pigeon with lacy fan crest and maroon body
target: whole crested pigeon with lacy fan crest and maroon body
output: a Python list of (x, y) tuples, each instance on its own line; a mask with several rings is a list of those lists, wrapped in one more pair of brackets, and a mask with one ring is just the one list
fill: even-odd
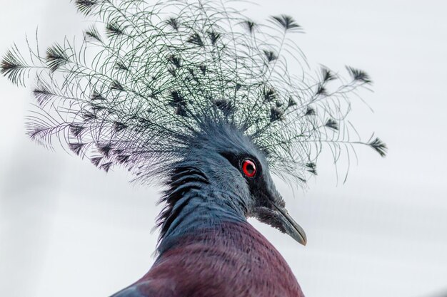
[(368, 73), (310, 66), (291, 16), (253, 21), (235, 1), (74, 5), (91, 22), (80, 40), (41, 52), (26, 37), (26, 55), (11, 46), (0, 73), (24, 87), (34, 78), (31, 140), (163, 187), (155, 262), (113, 296), (304, 296), (248, 218), (306, 245), (273, 177), (306, 187), (323, 150), (334, 162), (359, 145), (386, 155), (348, 120)]

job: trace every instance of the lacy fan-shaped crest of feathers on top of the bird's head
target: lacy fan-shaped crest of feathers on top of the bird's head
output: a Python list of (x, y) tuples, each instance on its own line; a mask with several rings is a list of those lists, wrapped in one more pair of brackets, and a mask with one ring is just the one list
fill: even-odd
[(31, 138), (51, 147), (56, 137), (96, 167), (120, 165), (143, 181), (179, 160), (209, 122), (241, 130), (272, 172), (283, 177), (293, 165), (288, 174), (301, 182), (316, 174), (325, 146), (334, 161), (358, 144), (386, 155), (381, 140), (362, 142), (346, 120), (351, 94), (372, 83), (367, 73), (311, 75), (291, 16), (255, 23), (233, 4), (76, 0), (94, 22), (81, 43), (54, 43), (44, 56), (30, 48), (31, 61), (13, 46), (0, 73), (19, 85), (36, 75)]

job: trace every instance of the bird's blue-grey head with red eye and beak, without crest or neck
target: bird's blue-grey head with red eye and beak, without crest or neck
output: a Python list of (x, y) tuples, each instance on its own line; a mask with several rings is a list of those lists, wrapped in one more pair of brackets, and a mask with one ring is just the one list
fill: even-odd
[(236, 208), (245, 217), (254, 217), (306, 245), (306, 234), (288, 214), (265, 154), (240, 128), (208, 122), (185, 155), (190, 156), (186, 162), (206, 175), (214, 191), (227, 193), (221, 199), (236, 200), (219, 203)]

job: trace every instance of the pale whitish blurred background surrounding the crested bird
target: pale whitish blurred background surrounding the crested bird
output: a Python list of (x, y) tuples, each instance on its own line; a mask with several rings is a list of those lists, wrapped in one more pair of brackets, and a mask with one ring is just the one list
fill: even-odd
[[(281, 251), (308, 297), (447, 296), (447, 4), (403, 0), (257, 1), (257, 21), (293, 16), (313, 66), (366, 70), (351, 120), (388, 157), (358, 147), (347, 182), (329, 155), (309, 189), (278, 181), (308, 245), (251, 221)], [(1, 3), (0, 52), (39, 26), (42, 48), (88, 26), (69, 0)], [(109, 296), (149, 270), (159, 189), (129, 184), (24, 134), (30, 90), (0, 78), (0, 296)], [(344, 166), (343, 164), (341, 165)], [(342, 169), (343, 170), (343, 169)]]

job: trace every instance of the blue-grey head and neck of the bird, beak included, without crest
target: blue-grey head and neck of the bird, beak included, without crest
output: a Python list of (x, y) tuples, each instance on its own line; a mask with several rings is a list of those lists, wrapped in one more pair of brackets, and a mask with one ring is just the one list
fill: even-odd
[[(166, 249), (166, 241), (188, 233), (187, 229), (228, 219), (246, 222), (247, 217), (256, 217), (306, 244), (303, 229), (288, 215), (273, 184), (266, 158), (249, 137), (226, 124), (209, 122), (203, 129), (207, 132), (191, 140), (184, 159), (172, 165), (166, 182), (166, 209), (159, 223), (161, 251)], [(243, 170), (246, 160), (256, 168), (253, 177)], [(207, 208), (204, 213), (200, 212), (201, 203)]]

